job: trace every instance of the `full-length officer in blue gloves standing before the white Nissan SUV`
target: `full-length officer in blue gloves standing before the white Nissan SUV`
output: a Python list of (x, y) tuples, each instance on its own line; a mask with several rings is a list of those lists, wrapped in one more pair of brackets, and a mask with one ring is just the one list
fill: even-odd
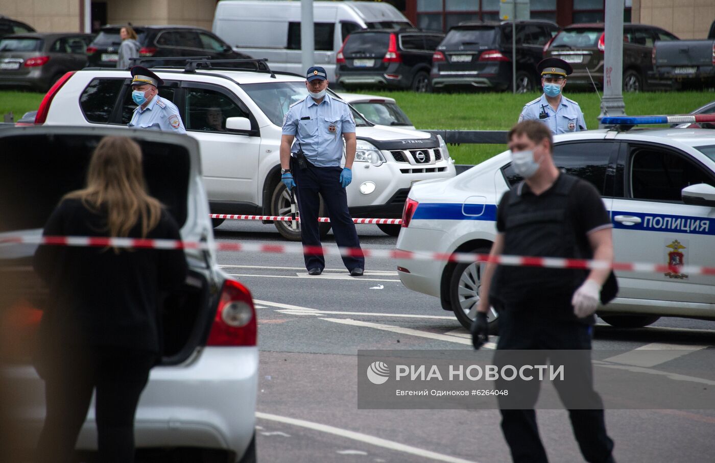
[[(360, 248), (355, 224), (347, 211), (345, 193), (345, 187), (352, 181), (352, 161), (357, 146), (355, 120), (345, 101), (327, 94), (327, 84), (325, 69), (320, 66), (308, 69), (305, 85), (309, 96), (290, 105), (285, 114), (280, 140), (281, 180), (289, 190), (297, 187), (304, 246), (320, 247), (317, 224), (320, 193), (337, 246)], [(344, 168), (340, 167), (342, 139), (345, 139)], [(322, 252), (305, 253), (304, 257), (308, 274), (320, 275), (325, 268)], [(342, 262), (350, 275), (363, 274), (362, 252), (343, 256)]]

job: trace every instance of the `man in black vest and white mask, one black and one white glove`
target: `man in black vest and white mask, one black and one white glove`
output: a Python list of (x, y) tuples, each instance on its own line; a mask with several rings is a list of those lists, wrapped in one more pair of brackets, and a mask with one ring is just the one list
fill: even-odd
[[(576, 257), (611, 262), (611, 220), (601, 196), (587, 181), (556, 168), (551, 131), (537, 121), (523, 121), (511, 129), (508, 140), (512, 166), (525, 180), (506, 192), (499, 203), (498, 234), (490, 256)], [(478, 349), (488, 339), (490, 305), (498, 310), (500, 337), (495, 362), (500, 354), (517, 354), (506, 349), (521, 349), (522, 354), (524, 350), (540, 349), (526, 355), (548, 357), (552, 364), (556, 363), (552, 356), (559, 352), (546, 349), (580, 352), (576, 355), (581, 357), (576, 357), (576, 364), (570, 366), (573, 369), (566, 371), (571, 382), (553, 384), (569, 409), (583, 457), (593, 463), (614, 462), (603, 402), (593, 390), (590, 352), (598, 302), (613, 299), (616, 290), (613, 273), (608, 269), (587, 272), (487, 264), (472, 325), (472, 339)], [(546, 363), (546, 358), (539, 362)], [(533, 409), (538, 382), (524, 384), (526, 389), (519, 390), (519, 394), (510, 385), (503, 385), (512, 390), (508, 397), (499, 397), (502, 431), (514, 462), (546, 463)], [(520, 397), (526, 397), (528, 405), (509, 406)], [(591, 405), (579, 405), (583, 403)]]

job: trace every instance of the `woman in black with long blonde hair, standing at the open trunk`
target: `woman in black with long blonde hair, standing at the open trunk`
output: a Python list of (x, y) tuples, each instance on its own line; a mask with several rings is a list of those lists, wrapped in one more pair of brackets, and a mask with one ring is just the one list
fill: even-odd
[[(87, 186), (61, 199), (44, 234), (180, 239), (147, 194), (139, 144), (124, 136), (99, 142)], [(184, 282), (184, 253), (41, 246), (34, 268), (49, 285), (35, 362), (46, 397), (36, 460), (72, 461), (96, 389), (99, 461), (132, 462), (134, 414), (161, 351), (159, 292)]]

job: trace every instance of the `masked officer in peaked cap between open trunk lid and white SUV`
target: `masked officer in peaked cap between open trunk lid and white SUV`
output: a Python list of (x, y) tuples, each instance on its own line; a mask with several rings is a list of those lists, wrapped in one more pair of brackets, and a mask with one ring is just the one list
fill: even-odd
[(164, 81), (144, 66), (134, 66), (129, 72), (133, 77), (132, 100), (139, 106), (134, 109), (132, 120), (127, 125), (185, 134), (186, 129), (177, 106), (159, 96), (157, 87), (163, 85)]

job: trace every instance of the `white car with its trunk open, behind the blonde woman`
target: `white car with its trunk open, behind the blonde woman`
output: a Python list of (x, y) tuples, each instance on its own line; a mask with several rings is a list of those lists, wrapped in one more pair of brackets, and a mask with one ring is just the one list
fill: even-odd
[[(0, 130), (0, 237), (39, 236), (61, 197), (84, 186), (92, 151), (108, 135), (131, 136), (142, 146), (147, 186), (176, 219), (182, 239), (212, 244), (197, 141), (112, 126)], [(44, 306), (48, 294), (32, 271), (35, 249), (34, 244), (0, 249), (4, 281), (16, 282), (3, 287), (4, 301), (14, 298), (33, 313)], [(255, 463), (258, 348), (251, 294), (220, 269), (214, 250), (184, 253), (189, 264), (184, 286), (159, 298), (163, 354), (137, 408), (139, 459), (142, 454), (157, 457), (158, 452), (161, 461)], [(28, 320), (39, 322), (39, 317)], [(23, 339), (30, 336), (28, 330)], [(3, 384), (21, 391), (4, 405), (16, 407), (13, 415), (20, 417), (18, 428), (30, 445), (44, 419), (44, 385), (31, 367), (31, 350), (18, 352), (19, 358), (0, 369)], [(77, 440), (79, 451), (96, 449), (94, 422), (91, 407)]]

